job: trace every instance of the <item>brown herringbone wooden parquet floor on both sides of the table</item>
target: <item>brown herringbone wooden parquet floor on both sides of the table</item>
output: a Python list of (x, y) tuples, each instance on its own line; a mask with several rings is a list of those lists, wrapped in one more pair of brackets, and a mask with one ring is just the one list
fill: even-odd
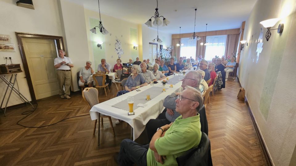
[[(228, 81), (226, 88), (210, 95), (207, 105), (209, 138), (211, 140), (214, 165), (266, 165), (252, 120), (244, 102), (238, 101), (239, 83)], [(113, 86), (105, 97), (99, 90), (99, 101), (115, 97)], [(108, 92), (108, 91), (107, 91)], [(71, 99), (59, 96), (38, 101), (34, 113), (20, 123), (26, 126), (53, 124), (64, 118), (88, 114), (89, 108), (81, 93), (71, 95)], [(127, 123), (113, 126), (113, 137), (108, 119), (101, 126), (101, 144), (97, 146), (97, 132), (92, 135), (93, 121), (90, 116), (82, 116), (61, 121), (43, 128), (24, 128), (17, 121), (25, 117), (24, 111), (30, 106), (19, 106), (0, 113), (0, 165), (116, 165), (113, 155), (119, 151), (120, 142), (130, 138)], [(147, 143), (146, 134), (136, 140)]]

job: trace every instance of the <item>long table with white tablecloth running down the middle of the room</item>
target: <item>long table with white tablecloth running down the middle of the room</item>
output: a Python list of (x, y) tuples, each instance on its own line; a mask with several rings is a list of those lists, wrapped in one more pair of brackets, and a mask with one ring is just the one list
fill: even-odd
[[(152, 87), (163, 87), (161, 81), (158, 81), (158, 83), (154, 85), (149, 84), (147, 86), (143, 86), (139, 88), (141, 91), (134, 90), (129, 93), (125, 93), (121, 96), (110, 99), (108, 101), (94, 105), (92, 109), (89, 111), (91, 119), (92, 120), (98, 119), (99, 113), (101, 113), (101, 114), (108, 115), (116, 119), (125, 121), (128, 124), (130, 124), (130, 126), (133, 128), (133, 139), (135, 140), (143, 132), (147, 122), (150, 119), (157, 118), (158, 115), (163, 111), (164, 99), (171, 93), (176, 93), (181, 91), (182, 81), (180, 80), (176, 81), (178, 80), (179, 77), (180, 77), (180, 80), (182, 80), (184, 76), (183, 74), (179, 76), (178, 75), (169, 76), (169, 80), (167, 81), (168, 83), (165, 85), (165, 88), (167, 89), (166, 92), (160, 93), (156, 97), (151, 98), (151, 100), (148, 102), (143, 98), (142, 104), (146, 104), (147, 106), (136, 108), (136, 105), (134, 105), (134, 108), (136, 108), (134, 109), (135, 115), (128, 115), (127, 110), (114, 107), (113, 105), (127, 99), (128, 96), (135, 96), (140, 93), (146, 96), (146, 93), (149, 90), (151, 90)], [(173, 88), (170, 88), (170, 84), (171, 84), (170, 82), (174, 82)], [(126, 105), (128, 105), (127, 102), (126, 102)]]

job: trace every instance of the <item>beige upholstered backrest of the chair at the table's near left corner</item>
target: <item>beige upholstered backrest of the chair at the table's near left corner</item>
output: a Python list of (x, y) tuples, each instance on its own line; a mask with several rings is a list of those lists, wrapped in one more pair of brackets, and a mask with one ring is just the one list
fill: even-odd
[(82, 91), (82, 97), (87, 102), (90, 108), (92, 108), (96, 104), (99, 104), (98, 94), (98, 90), (93, 87), (84, 88)]

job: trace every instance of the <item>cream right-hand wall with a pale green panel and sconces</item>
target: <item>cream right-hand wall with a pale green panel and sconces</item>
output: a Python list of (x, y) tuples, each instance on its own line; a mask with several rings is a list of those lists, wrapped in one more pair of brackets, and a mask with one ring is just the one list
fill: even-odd
[[(244, 40), (249, 45), (240, 57), (239, 80), (273, 163), (280, 166), (289, 165), (296, 144), (295, 7), (294, 0), (257, 1), (245, 26)], [(272, 30), (266, 41), (266, 28), (259, 22), (270, 18), (281, 18), (273, 28), (284, 23), (284, 30), (282, 34)], [(263, 51), (256, 64), (255, 41), (261, 27)]]

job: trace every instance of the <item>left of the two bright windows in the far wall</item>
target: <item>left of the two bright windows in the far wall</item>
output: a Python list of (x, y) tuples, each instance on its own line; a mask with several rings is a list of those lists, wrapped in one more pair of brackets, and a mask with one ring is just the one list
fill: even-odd
[(184, 45), (180, 45), (180, 56), (195, 59), (196, 54), (196, 38), (194, 40), (190, 40), (189, 38), (181, 38), (181, 43)]

